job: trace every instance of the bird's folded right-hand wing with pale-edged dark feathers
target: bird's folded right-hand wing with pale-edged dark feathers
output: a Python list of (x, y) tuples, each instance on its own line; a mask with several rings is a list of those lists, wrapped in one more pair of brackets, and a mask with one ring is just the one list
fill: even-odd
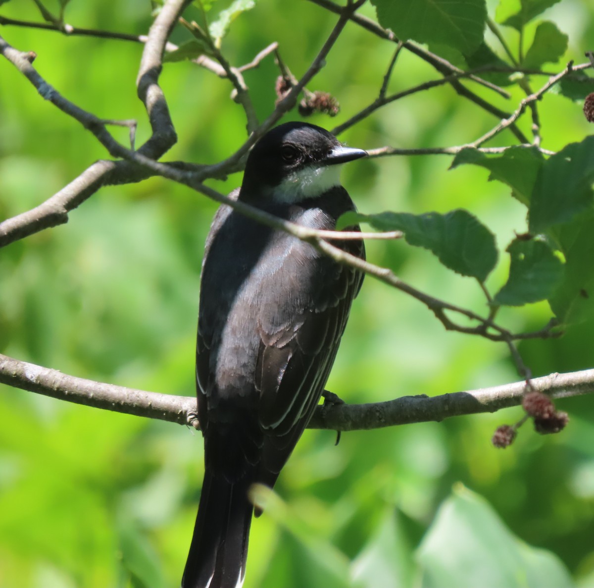
[[(312, 215), (309, 209), (307, 221), (310, 227), (333, 229), (336, 218), (321, 211)], [(262, 300), (255, 373), (258, 420), (264, 432), (258, 481), (268, 486), (274, 485), (320, 400), (363, 277), (307, 243), (279, 241), (269, 250), (270, 256), (282, 259), (271, 279), (282, 279), (285, 299)], [(283, 241), (292, 243), (290, 252)], [(341, 247), (365, 257), (362, 241), (345, 241)]]

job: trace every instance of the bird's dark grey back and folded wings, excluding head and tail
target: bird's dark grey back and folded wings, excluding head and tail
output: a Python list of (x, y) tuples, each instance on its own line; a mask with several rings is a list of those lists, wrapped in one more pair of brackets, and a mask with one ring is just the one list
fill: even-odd
[[(327, 196), (271, 212), (333, 229), (353, 205), (343, 188)], [(362, 241), (342, 243), (364, 257)], [(274, 484), (320, 400), (361, 281), (311, 245), (219, 210), (207, 241), (196, 364), (213, 467), (259, 462), (257, 481)], [(240, 447), (243, 457), (230, 459)]]

